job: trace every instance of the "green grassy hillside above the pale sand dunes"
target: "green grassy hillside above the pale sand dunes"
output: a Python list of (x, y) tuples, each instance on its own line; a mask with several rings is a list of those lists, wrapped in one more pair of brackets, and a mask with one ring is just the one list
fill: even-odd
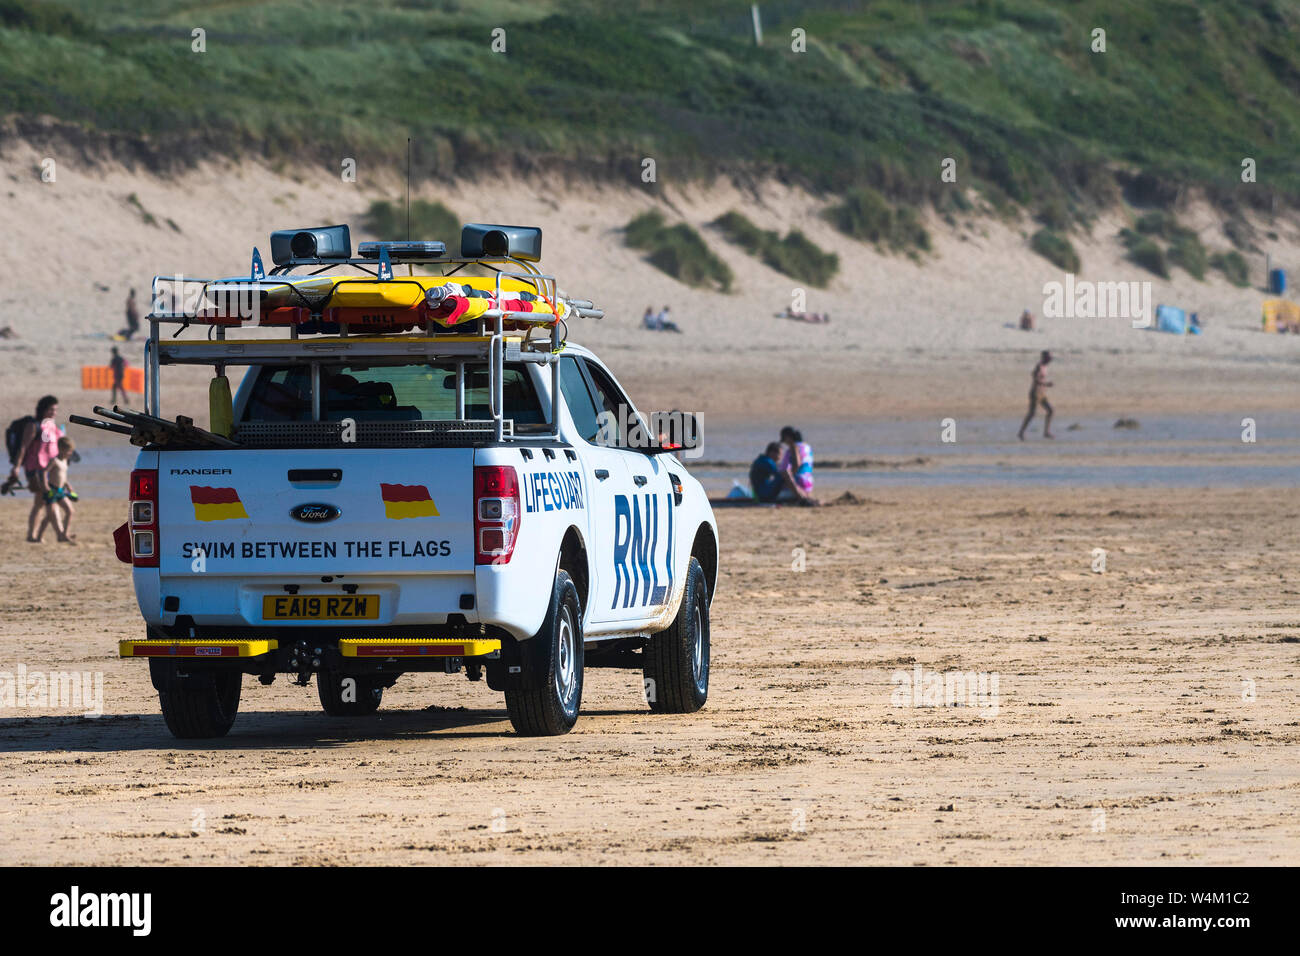
[(952, 157), (958, 185), (1061, 224), (1118, 190), (1300, 198), (1300, 1), (759, 7), (762, 46), (722, 0), (0, 0), (0, 114), (161, 164), (395, 165), (410, 135), (417, 174), (641, 182), (653, 157), (660, 183), (777, 174), (940, 208)]

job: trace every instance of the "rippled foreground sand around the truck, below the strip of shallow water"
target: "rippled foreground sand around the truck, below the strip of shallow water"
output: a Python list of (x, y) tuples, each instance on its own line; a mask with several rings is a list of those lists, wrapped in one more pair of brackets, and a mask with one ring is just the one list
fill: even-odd
[[(1266, 498), (723, 510), (697, 714), (593, 670), (572, 734), (521, 739), (462, 675), (359, 719), (246, 678), (230, 736), (187, 745), (114, 657), (121, 506), (87, 502), (82, 546), (5, 549), (5, 667), (101, 671), (105, 713), (0, 718), (0, 864), (1294, 864), (1300, 515)], [(916, 667), (996, 697), (915, 706)]]

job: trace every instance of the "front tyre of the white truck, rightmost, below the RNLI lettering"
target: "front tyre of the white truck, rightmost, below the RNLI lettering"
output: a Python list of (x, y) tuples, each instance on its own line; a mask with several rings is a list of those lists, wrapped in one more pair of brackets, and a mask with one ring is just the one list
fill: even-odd
[(646, 700), (658, 714), (692, 714), (708, 700), (708, 583), (694, 558), (686, 593), (667, 631), (651, 635), (642, 652)]

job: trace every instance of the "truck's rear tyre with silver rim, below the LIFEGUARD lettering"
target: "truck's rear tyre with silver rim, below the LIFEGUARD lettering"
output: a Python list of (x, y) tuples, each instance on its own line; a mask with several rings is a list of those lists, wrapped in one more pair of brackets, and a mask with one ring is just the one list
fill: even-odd
[(555, 575), (546, 620), (523, 641), (528, 680), (506, 691), (506, 710), (525, 737), (568, 734), (582, 704), (582, 607), (568, 572)]

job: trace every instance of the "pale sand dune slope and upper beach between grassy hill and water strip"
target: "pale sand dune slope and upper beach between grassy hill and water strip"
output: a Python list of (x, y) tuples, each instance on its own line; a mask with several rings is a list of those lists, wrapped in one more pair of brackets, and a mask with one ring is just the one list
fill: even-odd
[[(0, 212), (13, 225), (0, 234), (0, 255), (21, 264), (0, 287), (0, 325), (21, 336), (0, 342), (9, 372), (0, 384), (5, 406), (26, 405), (47, 384), (72, 394), (78, 365), (104, 360), (108, 343), (100, 334), (122, 324), (127, 287), (143, 294), (155, 273), (242, 273), (254, 245), (265, 252), (272, 229), (355, 224), (373, 199), (403, 194), (398, 177), (372, 178), (364, 168), (358, 183), (320, 168), (218, 163), (157, 178), (112, 164), (82, 166), (74, 157), (60, 163), (55, 183), (43, 183), (34, 172), (38, 146), (9, 142), (3, 156)], [(1200, 337), (1134, 330), (1123, 319), (1045, 319), (1034, 334), (1010, 328), (1024, 307), (1041, 315), (1044, 282), (1063, 278), (1028, 248), (1036, 229), (1028, 221), (962, 217), (949, 225), (931, 217), (935, 250), (913, 261), (845, 239), (818, 215), (827, 200), (777, 183), (753, 190), (660, 183), (653, 195), (640, 186), (490, 178), (426, 185), (417, 195), (442, 200), (464, 219), (543, 226), (543, 265), (608, 313), (572, 336), (606, 355), (645, 407), (722, 419), (1014, 418), (1044, 347), (1061, 359), (1058, 398), (1075, 410), (1295, 405), (1300, 338), (1256, 332), (1264, 294), (1235, 289), (1217, 273), (1197, 282), (1175, 271), (1171, 281), (1153, 281), (1156, 302), (1199, 311), (1208, 329)], [(688, 289), (623, 245), (621, 226), (653, 206), (702, 229), (734, 271), (734, 294)], [(831, 286), (807, 290), (809, 310), (829, 312), (829, 325), (775, 317), (797, 284), (707, 228), (729, 209), (764, 228), (802, 229), (840, 254)], [(1208, 209), (1193, 206), (1184, 221), (1200, 228), (1209, 248), (1227, 247)], [(1122, 224), (1112, 215), (1096, 222), (1092, 237), (1075, 237), (1080, 278), (1153, 278), (1122, 259), (1114, 239)], [(1300, 261), (1300, 233), (1280, 222), (1261, 229), (1278, 233), (1270, 242), (1277, 263)], [(359, 230), (355, 241), (363, 238), (372, 237)], [(1252, 256), (1252, 268), (1262, 277), (1262, 256)], [(638, 328), (647, 304), (664, 303), (684, 336)], [(181, 382), (186, 373), (169, 376)]]

